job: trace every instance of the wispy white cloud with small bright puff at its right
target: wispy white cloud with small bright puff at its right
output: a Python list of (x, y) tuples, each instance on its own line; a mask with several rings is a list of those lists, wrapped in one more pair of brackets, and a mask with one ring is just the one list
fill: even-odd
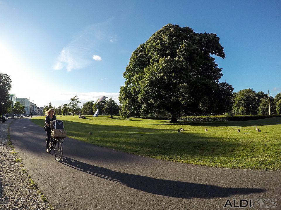
[(91, 65), (93, 59), (102, 60), (100, 56), (93, 55), (93, 52), (98, 51), (99, 46), (110, 39), (107, 32), (109, 22), (110, 20), (92, 24), (82, 29), (67, 46), (63, 47), (53, 69), (67, 71), (83, 69)]

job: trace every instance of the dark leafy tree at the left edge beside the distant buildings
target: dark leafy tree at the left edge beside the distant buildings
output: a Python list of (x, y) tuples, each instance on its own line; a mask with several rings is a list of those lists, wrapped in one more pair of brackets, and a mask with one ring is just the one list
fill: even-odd
[[(11, 107), (11, 101), (9, 100), (9, 90), (11, 90), (11, 79), (8, 74), (2, 74), (0, 72), (0, 112), (7, 113), (7, 109)], [(2, 105), (3, 102), (4, 104)]]

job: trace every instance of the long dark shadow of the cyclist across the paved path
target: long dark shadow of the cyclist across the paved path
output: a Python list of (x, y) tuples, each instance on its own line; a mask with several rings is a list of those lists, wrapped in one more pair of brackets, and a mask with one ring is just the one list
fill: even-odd
[(91, 174), (93, 176), (126, 185), (129, 188), (169, 197), (185, 199), (214, 198), (265, 192), (264, 189), (259, 188), (225, 188), (215, 185), (206, 185), (184, 181), (158, 179), (135, 174), (127, 174), (103, 167), (97, 167), (91, 164), (80, 162), (78, 160), (73, 160), (68, 157), (63, 157), (61, 163), (79, 171)]

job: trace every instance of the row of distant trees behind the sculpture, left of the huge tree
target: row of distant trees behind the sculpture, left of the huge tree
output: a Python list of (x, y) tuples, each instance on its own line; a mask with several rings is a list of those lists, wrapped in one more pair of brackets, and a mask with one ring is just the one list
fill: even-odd
[[(97, 100), (98, 101), (98, 100)], [(45, 113), (50, 108), (54, 108), (56, 110), (56, 115), (71, 115), (74, 116), (74, 113), (81, 112), (82, 115), (93, 115), (97, 111), (97, 101), (88, 101), (84, 103), (82, 109), (78, 104), (80, 103), (77, 96), (70, 99), (68, 104), (63, 104), (58, 107), (53, 107), (52, 103), (44, 106), (43, 112)], [(116, 104), (116, 102), (109, 98), (108, 100), (102, 100), (98, 103), (99, 114), (100, 115), (119, 115), (120, 106)]]

